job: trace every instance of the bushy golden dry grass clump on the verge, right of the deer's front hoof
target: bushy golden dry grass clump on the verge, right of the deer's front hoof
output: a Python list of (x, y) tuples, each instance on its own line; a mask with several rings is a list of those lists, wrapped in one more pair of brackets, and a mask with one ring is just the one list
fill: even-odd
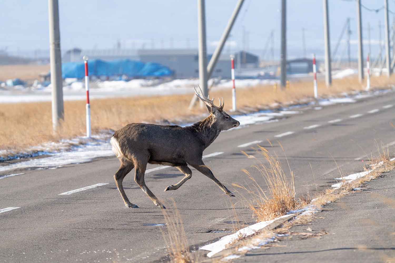
[(247, 196), (242, 194), (243, 200), (253, 211), (256, 220), (271, 220), (306, 205), (308, 201), (304, 198), (295, 198), (295, 176), (291, 169), (287, 175), (277, 155), (273, 156), (264, 147), (258, 147), (256, 151), (265, 157), (267, 164), (256, 162), (252, 167), (263, 177), (267, 190), (245, 169), (243, 172), (252, 183), (247, 186), (232, 184), (246, 191)]

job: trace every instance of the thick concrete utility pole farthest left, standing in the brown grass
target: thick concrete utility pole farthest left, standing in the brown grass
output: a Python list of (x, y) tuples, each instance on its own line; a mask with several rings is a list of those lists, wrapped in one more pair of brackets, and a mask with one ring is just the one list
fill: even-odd
[(64, 119), (62, 57), (60, 54), (59, 4), (48, 0), (49, 13), (49, 56), (52, 84), (52, 127), (58, 131), (60, 120)]

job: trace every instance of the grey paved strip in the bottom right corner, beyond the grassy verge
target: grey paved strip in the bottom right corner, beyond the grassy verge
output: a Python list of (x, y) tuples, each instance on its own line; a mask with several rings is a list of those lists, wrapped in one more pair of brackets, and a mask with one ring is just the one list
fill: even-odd
[(234, 262), (395, 262), (395, 170)]

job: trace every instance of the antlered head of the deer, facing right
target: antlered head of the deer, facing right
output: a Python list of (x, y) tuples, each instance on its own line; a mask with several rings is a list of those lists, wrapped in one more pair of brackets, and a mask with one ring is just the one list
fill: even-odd
[[(199, 87), (199, 86), (198, 86)], [(209, 97), (205, 98), (203, 95), (203, 91), (199, 87), (199, 91), (195, 89), (195, 94), (198, 98), (206, 104), (207, 110), (211, 115), (214, 116), (214, 122), (216, 123), (217, 127), (221, 129), (221, 131), (226, 131), (234, 127), (238, 127), (240, 125), (239, 121), (233, 119), (229, 114), (224, 112), (224, 98), (220, 101), (220, 106), (217, 107), (214, 105), (214, 98), (209, 99)]]

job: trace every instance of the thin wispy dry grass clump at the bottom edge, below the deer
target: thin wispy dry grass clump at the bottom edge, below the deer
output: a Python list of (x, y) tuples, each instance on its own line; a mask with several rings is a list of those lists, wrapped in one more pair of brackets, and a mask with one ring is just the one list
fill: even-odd
[(166, 222), (166, 231), (162, 231), (162, 235), (166, 242), (170, 260), (173, 263), (197, 262), (189, 251), (184, 222), (177, 207), (175, 207), (174, 211), (174, 214), (170, 215), (165, 210), (162, 210)]

